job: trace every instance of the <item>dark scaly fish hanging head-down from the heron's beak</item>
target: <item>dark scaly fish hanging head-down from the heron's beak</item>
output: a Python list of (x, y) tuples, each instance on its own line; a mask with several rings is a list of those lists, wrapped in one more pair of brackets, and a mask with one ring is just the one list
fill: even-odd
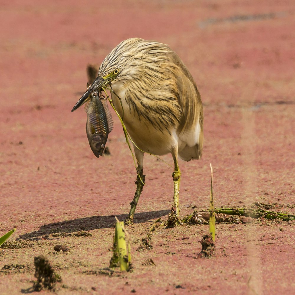
[(107, 99), (100, 99), (101, 93), (91, 94), (85, 105), (87, 113), (86, 133), (89, 145), (97, 158), (102, 155), (109, 133), (113, 129), (112, 115)]

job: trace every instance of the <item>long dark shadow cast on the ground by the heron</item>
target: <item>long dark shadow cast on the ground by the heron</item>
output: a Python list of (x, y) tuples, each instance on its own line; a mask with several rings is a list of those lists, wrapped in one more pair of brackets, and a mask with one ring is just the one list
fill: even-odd
[[(170, 210), (158, 210), (136, 213), (134, 216), (134, 224), (165, 216), (169, 212)], [(115, 216), (121, 221), (125, 220), (127, 214), (91, 216), (44, 224), (40, 227), (39, 230), (20, 235), (18, 239), (40, 240), (44, 235), (49, 235), (53, 233), (71, 233), (96, 230), (99, 228), (110, 228), (113, 227), (116, 222)]]

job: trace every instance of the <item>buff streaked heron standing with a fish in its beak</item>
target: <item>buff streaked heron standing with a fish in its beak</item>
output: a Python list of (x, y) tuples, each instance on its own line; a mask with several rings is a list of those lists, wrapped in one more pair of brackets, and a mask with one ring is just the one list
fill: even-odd
[(126, 126), (137, 161), (136, 192), (125, 224), (134, 213), (145, 184), (144, 153), (171, 153), (173, 205), (168, 223), (179, 223), (181, 171), (178, 158), (200, 159), (203, 150), (203, 105), (196, 83), (181, 58), (168, 45), (130, 38), (103, 60), (94, 82), (73, 107), (85, 103), (93, 91), (109, 89), (112, 102)]

